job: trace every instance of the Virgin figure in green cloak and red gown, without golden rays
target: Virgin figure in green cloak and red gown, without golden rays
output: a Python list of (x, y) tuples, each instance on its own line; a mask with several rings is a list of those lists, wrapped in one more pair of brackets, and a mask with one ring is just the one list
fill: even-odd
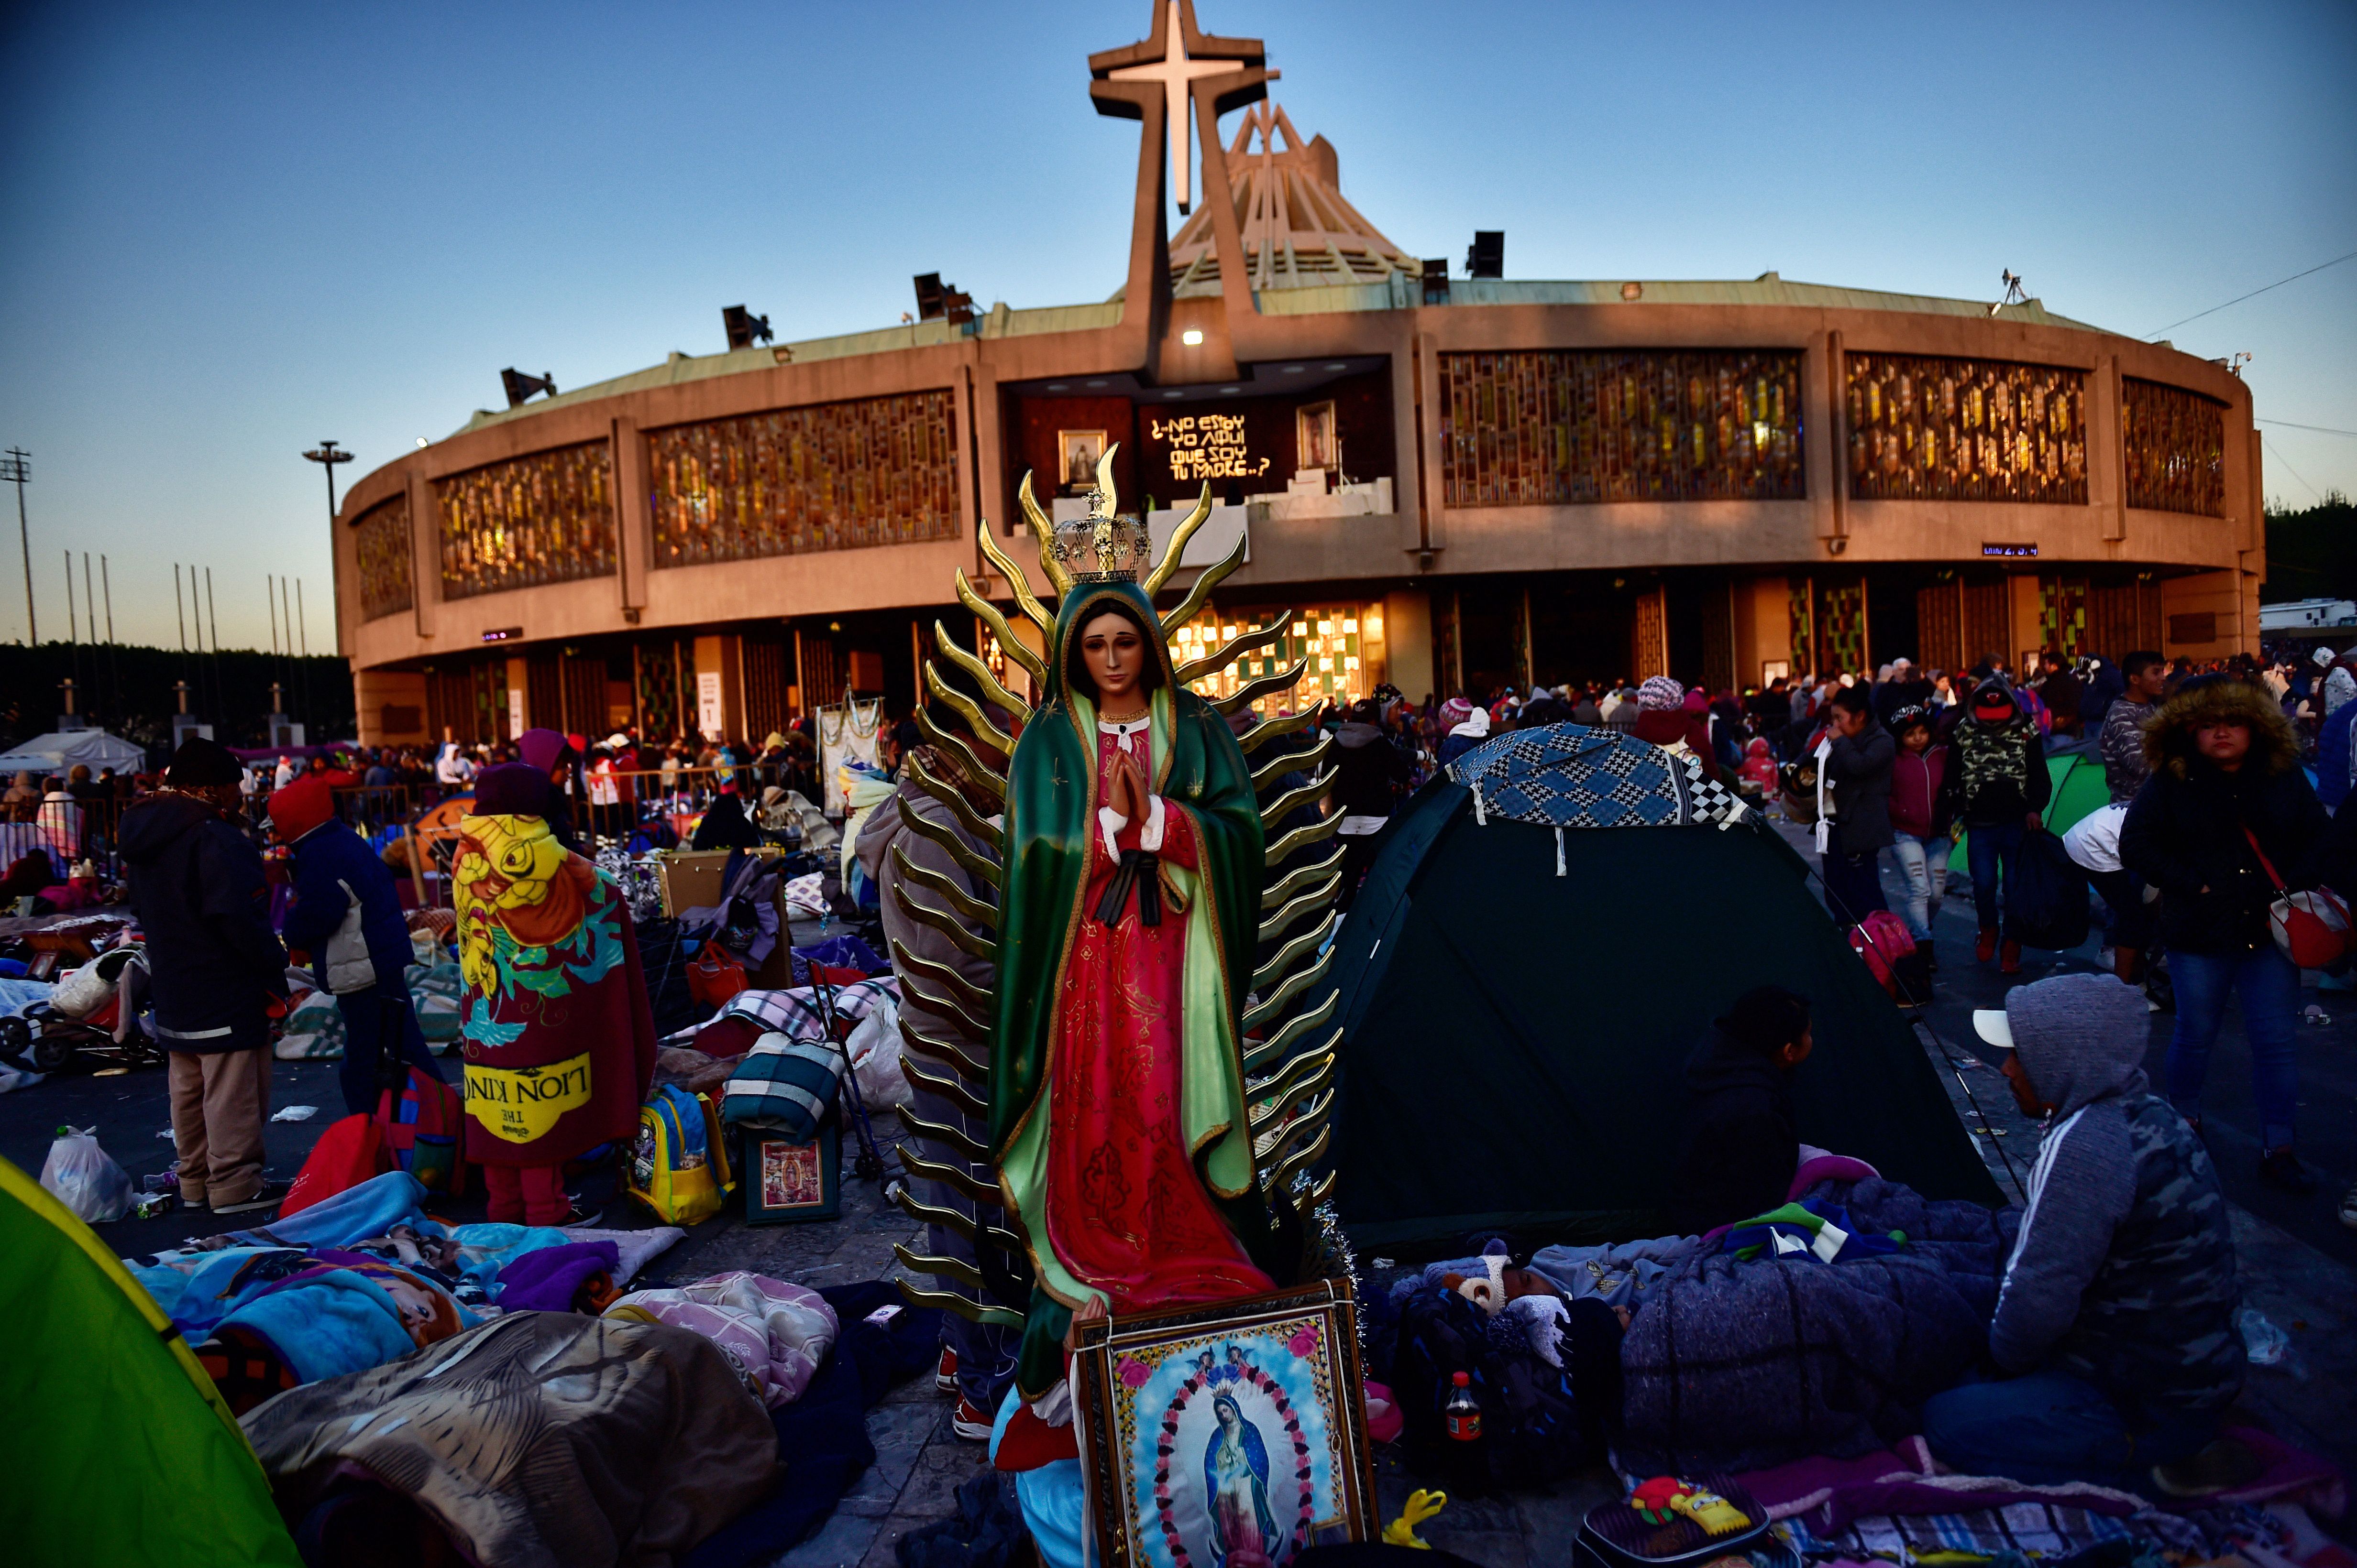
[(1237, 1048), (1261, 909), (1252, 770), (1124, 574), (1063, 596), (1047, 669), (1009, 768), (990, 1059), (990, 1154), (1035, 1278), (1025, 1396), (1063, 1377), (1075, 1309), (1275, 1288), (1254, 1262), (1268, 1210)]

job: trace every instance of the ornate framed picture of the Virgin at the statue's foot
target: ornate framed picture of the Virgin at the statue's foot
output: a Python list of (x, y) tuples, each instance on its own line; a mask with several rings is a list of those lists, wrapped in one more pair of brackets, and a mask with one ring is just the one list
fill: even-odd
[(1101, 1318), (1077, 1420), (1108, 1568), (1285, 1568), (1374, 1540), (1367, 1389), (1348, 1281)]

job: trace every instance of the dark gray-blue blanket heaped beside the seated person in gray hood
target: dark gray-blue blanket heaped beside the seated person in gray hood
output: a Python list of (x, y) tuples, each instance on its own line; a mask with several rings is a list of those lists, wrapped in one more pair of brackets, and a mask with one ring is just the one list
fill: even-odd
[(1739, 1471), (1886, 1448), (1980, 1361), (2013, 1210), (1926, 1203), (1890, 1182), (1808, 1196), (1909, 1245), (1836, 1264), (1711, 1255), (1657, 1278), (1622, 1340), (1624, 1469)]

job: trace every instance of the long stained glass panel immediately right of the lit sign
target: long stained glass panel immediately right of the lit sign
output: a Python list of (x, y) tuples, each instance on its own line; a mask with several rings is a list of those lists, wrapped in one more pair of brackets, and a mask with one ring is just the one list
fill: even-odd
[(1450, 506), (1808, 494), (1796, 351), (1442, 353), (1440, 405)]

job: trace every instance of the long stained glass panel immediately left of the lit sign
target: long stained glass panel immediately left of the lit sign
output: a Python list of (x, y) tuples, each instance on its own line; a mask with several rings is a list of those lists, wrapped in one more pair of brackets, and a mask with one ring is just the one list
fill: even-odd
[(957, 537), (948, 391), (651, 431), (655, 565)]

